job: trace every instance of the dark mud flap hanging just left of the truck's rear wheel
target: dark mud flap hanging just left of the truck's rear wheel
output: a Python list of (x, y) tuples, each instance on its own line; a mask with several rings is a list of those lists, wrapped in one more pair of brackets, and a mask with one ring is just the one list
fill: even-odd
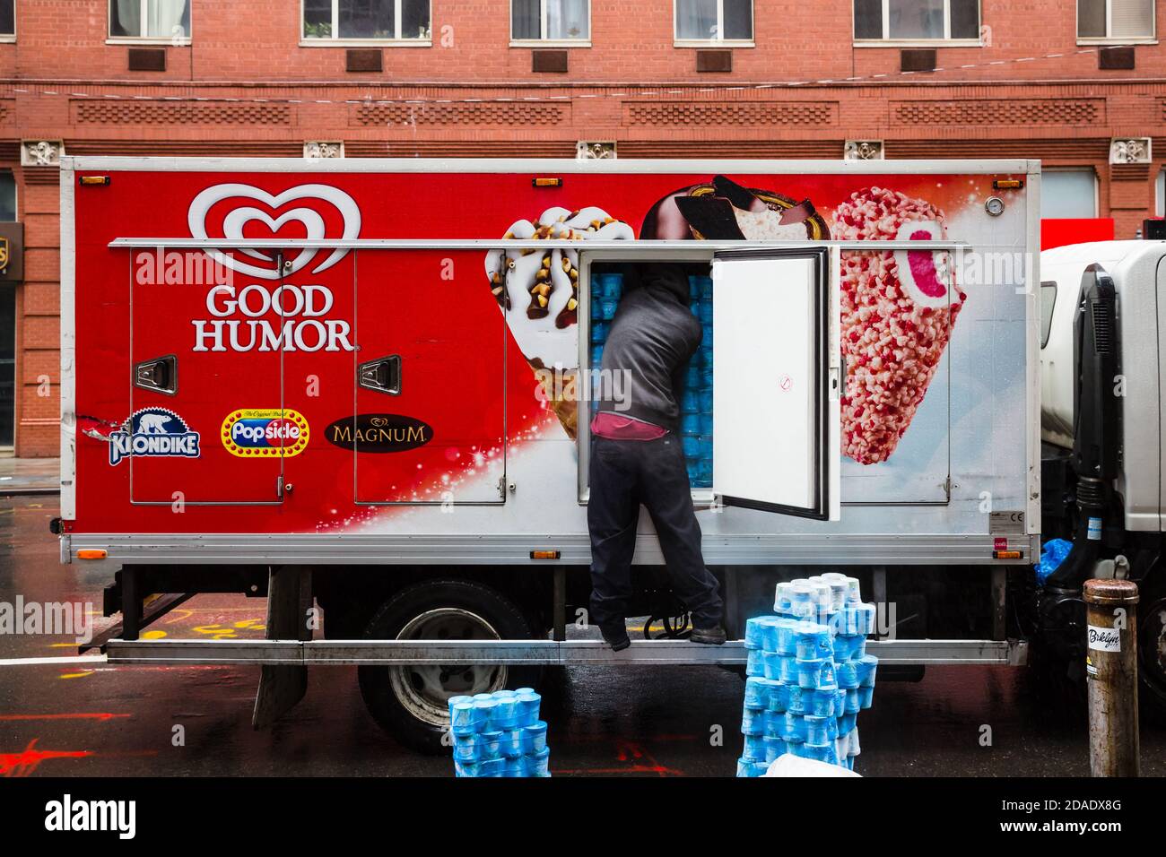
[[(267, 584), (267, 639), (308, 640), (311, 609), (311, 569), (298, 566), (273, 568)], [(266, 729), (295, 708), (308, 691), (308, 667), (264, 663), (255, 691), (254, 729)]]

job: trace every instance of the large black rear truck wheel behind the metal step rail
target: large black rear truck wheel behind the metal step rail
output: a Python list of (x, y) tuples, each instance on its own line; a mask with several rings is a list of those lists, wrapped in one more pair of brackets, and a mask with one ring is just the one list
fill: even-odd
[[(531, 626), (521, 611), (480, 583), (442, 579), (417, 583), (389, 598), (373, 616), (365, 639), (526, 640)], [(377, 724), (417, 752), (450, 753), (445, 701), (459, 694), (534, 686), (539, 667), (375, 667), (358, 669), (360, 695)]]

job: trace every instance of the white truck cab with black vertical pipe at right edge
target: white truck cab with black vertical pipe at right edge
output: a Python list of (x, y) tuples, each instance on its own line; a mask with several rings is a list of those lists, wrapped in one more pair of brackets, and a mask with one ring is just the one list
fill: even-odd
[(1042, 635), (1083, 663), (1082, 583), (1136, 581), (1142, 700), (1161, 711), (1166, 241), (1058, 247), (1040, 272), (1041, 535), (1073, 542), (1038, 591)]

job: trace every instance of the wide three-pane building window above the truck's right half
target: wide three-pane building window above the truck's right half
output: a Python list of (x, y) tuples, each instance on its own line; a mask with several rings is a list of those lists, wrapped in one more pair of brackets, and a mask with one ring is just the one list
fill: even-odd
[(979, 0), (855, 0), (855, 41), (979, 40)]

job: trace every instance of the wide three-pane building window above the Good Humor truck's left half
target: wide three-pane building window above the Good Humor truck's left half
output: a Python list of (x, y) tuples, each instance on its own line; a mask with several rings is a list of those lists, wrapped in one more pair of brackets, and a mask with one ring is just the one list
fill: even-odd
[(429, 0), (303, 0), (303, 37), (428, 42)]

